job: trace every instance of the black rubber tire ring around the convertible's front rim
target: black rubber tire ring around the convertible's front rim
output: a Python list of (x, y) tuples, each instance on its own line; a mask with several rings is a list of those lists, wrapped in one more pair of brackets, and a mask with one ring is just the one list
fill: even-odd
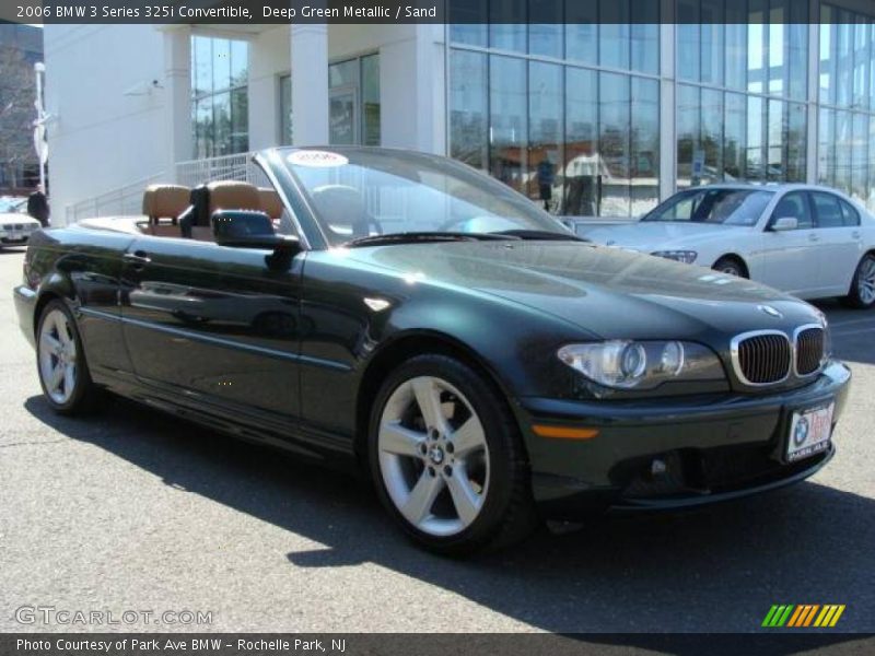
[[(404, 382), (418, 376), (442, 378), (458, 389), (474, 408), (486, 433), (489, 449), (489, 487), (483, 507), (474, 523), (454, 536), (432, 536), (412, 526), (395, 506), (383, 481), (380, 468), (377, 435), (380, 421), (388, 398)], [(510, 410), (503, 407), (493, 385), (474, 370), (446, 355), (420, 355), (394, 371), (385, 379), (371, 411), (368, 435), (368, 459), (371, 476), (381, 502), (405, 532), (432, 551), (463, 554), (490, 542), (506, 519), (520, 480), (518, 459), (522, 440)]]

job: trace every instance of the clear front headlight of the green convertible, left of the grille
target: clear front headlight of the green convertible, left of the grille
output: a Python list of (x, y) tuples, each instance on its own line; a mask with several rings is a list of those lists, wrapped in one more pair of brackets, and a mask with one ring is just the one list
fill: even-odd
[(723, 380), (708, 347), (682, 341), (611, 340), (569, 344), (557, 355), (593, 383), (615, 389), (654, 389), (670, 380)]

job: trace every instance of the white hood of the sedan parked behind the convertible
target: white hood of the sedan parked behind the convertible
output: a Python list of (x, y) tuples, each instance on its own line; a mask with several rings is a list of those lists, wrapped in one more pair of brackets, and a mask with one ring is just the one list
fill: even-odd
[(587, 239), (607, 246), (620, 246), (645, 253), (668, 250), (701, 243), (703, 239), (726, 238), (731, 231), (749, 230), (738, 225), (714, 223), (674, 223), (638, 221), (628, 225), (611, 225), (585, 231)]

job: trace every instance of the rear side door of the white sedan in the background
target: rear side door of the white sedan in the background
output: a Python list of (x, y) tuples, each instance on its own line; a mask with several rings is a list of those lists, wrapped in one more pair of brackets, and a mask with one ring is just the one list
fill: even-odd
[(862, 255), (860, 213), (843, 198), (812, 191), (822, 293), (847, 294)]

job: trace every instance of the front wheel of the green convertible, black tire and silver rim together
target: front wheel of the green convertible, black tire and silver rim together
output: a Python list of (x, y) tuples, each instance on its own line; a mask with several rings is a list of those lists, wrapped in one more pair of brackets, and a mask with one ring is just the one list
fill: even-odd
[(454, 358), (420, 355), (389, 374), (371, 413), (368, 454), (383, 505), (429, 551), (494, 550), (538, 524), (506, 402)]

